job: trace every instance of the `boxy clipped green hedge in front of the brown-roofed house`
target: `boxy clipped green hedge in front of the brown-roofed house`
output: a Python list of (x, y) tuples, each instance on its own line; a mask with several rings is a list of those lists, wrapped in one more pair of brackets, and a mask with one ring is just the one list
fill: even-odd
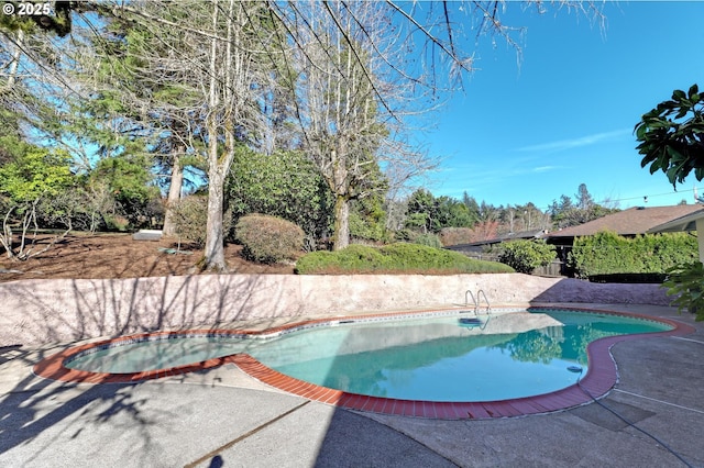
[(578, 237), (569, 261), (579, 278), (615, 274), (664, 274), (698, 258), (696, 237), (686, 233), (632, 238), (613, 232)]

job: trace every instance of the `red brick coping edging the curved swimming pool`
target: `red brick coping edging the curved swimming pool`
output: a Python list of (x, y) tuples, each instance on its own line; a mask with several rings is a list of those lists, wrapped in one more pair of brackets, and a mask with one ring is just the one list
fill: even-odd
[[(550, 310), (550, 308), (530, 308), (534, 310)], [(121, 342), (134, 342), (145, 338), (154, 338), (158, 336), (175, 335), (270, 335), (292, 328), (323, 324), (328, 322), (341, 322), (345, 320), (364, 320), (376, 317), (394, 317), (397, 315), (408, 315), (409, 312), (382, 313), (355, 315), (350, 317), (334, 317), (308, 320), (268, 328), (263, 332), (248, 330), (229, 330), (229, 328), (208, 328), (208, 330), (188, 330), (177, 332), (155, 332), (130, 335), (113, 339), (106, 339), (96, 343), (88, 343), (75, 347), (67, 348), (63, 352), (54, 354), (46, 359), (37, 363), (33, 370), (36, 376), (59, 380), (64, 382), (84, 382), (84, 383), (136, 383), (145, 380), (161, 379), (164, 377), (179, 376), (194, 371), (201, 371), (220, 367), (226, 364), (234, 364), (251, 377), (279, 390), (293, 393), (309, 400), (319, 401), (339, 408), (350, 410), (366, 411), (383, 414), (396, 414), (404, 416), (428, 417), (438, 420), (484, 420), (493, 417), (515, 417), (529, 414), (541, 414), (553, 411), (566, 410), (569, 408), (579, 406), (590, 403), (593, 399), (604, 397), (617, 382), (618, 371), (616, 363), (612, 358), (609, 349), (616, 343), (639, 339), (644, 337), (660, 336), (681, 336), (694, 333), (695, 328), (669, 319), (651, 317), (648, 315), (636, 313), (624, 313), (617, 311), (593, 311), (583, 308), (556, 308), (559, 310), (572, 311), (591, 311), (600, 314), (612, 314), (620, 316), (632, 316), (653, 322), (660, 322), (673, 326), (672, 330), (666, 332), (609, 336), (597, 339), (587, 347), (588, 371), (580, 380), (580, 385), (572, 385), (562, 390), (550, 393), (543, 393), (535, 397), (516, 398), (498, 401), (483, 402), (437, 402), (437, 401), (417, 401), (417, 400), (397, 400), (380, 397), (367, 397), (356, 393), (348, 393), (341, 390), (334, 390), (315, 383), (309, 383), (293, 377), (285, 376), (273, 370), (252, 356), (246, 354), (237, 354), (220, 358), (208, 359), (186, 366), (174, 367), (170, 369), (148, 370), (133, 374), (103, 374), (88, 372), (85, 370), (69, 369), (64, 364), (76, 355), (95, 347), (103, 345), (116, 345)], [(426, 313), (440, 311), (425, 311)], [(419, 312), (413, 312), (417, 314)]]

